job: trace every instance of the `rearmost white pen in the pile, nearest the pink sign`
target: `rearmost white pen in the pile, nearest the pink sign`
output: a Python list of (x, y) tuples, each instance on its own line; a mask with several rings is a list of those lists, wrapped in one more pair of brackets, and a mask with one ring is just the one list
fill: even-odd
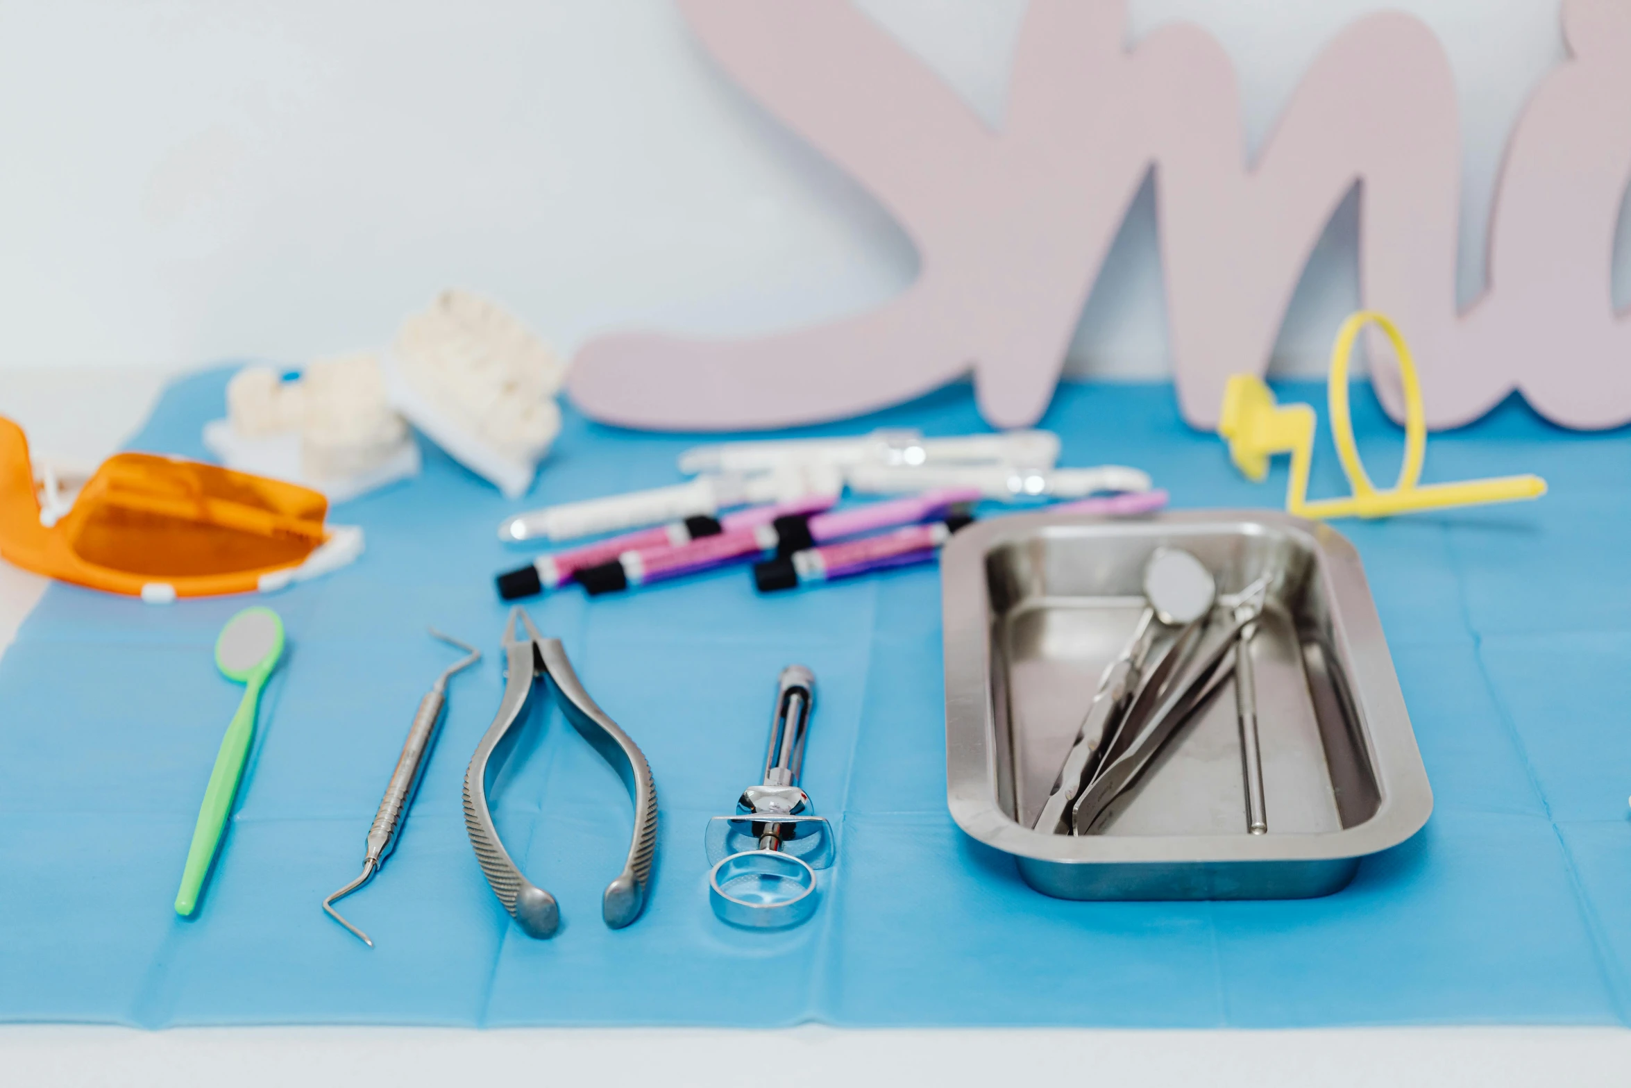
[(918, 431), (873, 431), (850, 439), (778, 439), (716, 442), (680, 453), (683, 473), (755, 473), (783, 465), (1028, 465), (1052, 468), (1059, 436), (1052, 431), (1006, 431), (925, 439)]

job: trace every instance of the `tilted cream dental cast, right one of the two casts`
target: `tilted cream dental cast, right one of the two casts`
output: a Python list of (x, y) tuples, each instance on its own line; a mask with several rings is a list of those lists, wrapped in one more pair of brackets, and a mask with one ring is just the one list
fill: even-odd
[(566, 367), (520, 321), (463, 290), (444, 290), (403, 323), (387, 360), (391, 403), (506, 498), (527, 493), (561, 431), (555, 393)]

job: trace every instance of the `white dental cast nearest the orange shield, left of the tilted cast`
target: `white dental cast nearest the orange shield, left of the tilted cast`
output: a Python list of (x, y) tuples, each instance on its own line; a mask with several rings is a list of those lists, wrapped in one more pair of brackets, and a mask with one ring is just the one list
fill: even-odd
[(297, 380), (246, 367), (227, 383), (227, 419), (204, 426), (204, 445), (228, 468), (352, 499), (419, 471), (419, 447), (385, 398), (367, 352), (313, 360)]

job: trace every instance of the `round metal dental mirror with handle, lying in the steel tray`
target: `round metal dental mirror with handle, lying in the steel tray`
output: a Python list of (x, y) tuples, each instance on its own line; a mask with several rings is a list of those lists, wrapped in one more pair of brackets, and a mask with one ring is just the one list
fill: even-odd
[[(1106, 742), (1114, 739), (1116, 726), (1122, 711), (1127, 710), (1129, 697), (1138, 687), (1145, 657), (1155, 641), (1151, 625), (1184, 626), (1196, 623), (1212, 610), (1217, 597), (1217, 582), (1212, 571), (1200, 559), (1182, 548), (1156, 548), (1143, 564), (1143, 599), (1145, 610), (1138, 617), (1132, 638), (1120, 654), (1104, 669), (1099, 687), (1093, 693), (1093, 703), (1081, 719), (1076, 741), (1070, 745), (1054, 789), (1042, 804), (1042, 812), (1036, 819), (1036, 830), (1047, 834), (1070, 834), (1070, 811), (1076, 794), (1086, 786), (1090, 773), (1094, 770), (1094, 757), (1101, 755)], [(1171, 656), (1171, 651), (1169, 654)], [(1163, 661), (1163, 666), (1166, 662)], [(1165, 675), (1165, 669), (1156, 672)]]

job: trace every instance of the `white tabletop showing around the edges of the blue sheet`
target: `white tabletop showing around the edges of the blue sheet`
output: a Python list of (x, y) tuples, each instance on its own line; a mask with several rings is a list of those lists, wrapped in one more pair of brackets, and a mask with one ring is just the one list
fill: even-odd
[[(142, 422), (161, 370), (0, 370), (0, 414), (31, 449), (96, 463)], [(44, 579), (0, 561), (0, 652)], [(3, 879), (3, 878), (0, 878)], [(3, 918), (0, 918), (3, 925)], [(1083, 972), (1091, 985), (1091, 972)], [(233, 1088), (390, 1083), (447, 1088), (476, 1078), (550, 1085), (718, 1088), (763, 1070), (778, 1088), (868, 1085), (1135, 1083), (1241, 1088), (1359, 1085), (1615, 1086), (1628, 1081), (1623, 1028), (1346, 1028), (1300, 1031), (801, 1028), (188, 1028), (0, 1026), (11, 1085)]]

